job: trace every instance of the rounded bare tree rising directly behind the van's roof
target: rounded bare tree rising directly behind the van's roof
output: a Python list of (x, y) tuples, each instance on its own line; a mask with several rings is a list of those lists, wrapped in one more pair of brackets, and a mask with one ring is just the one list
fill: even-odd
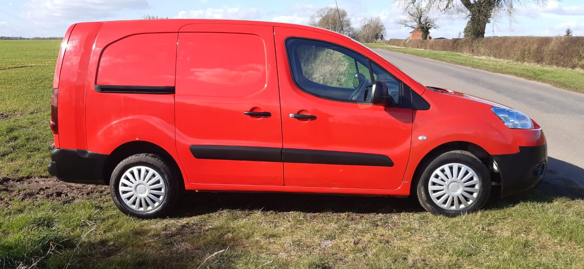
[(333, 8), (332, 6), (319, 9), (310, 17), (308, 25), (345, 34), (351, 38), (356, 36), (356, 31), (351, 26), (351, 19), (349, 19), (345, 9)]

